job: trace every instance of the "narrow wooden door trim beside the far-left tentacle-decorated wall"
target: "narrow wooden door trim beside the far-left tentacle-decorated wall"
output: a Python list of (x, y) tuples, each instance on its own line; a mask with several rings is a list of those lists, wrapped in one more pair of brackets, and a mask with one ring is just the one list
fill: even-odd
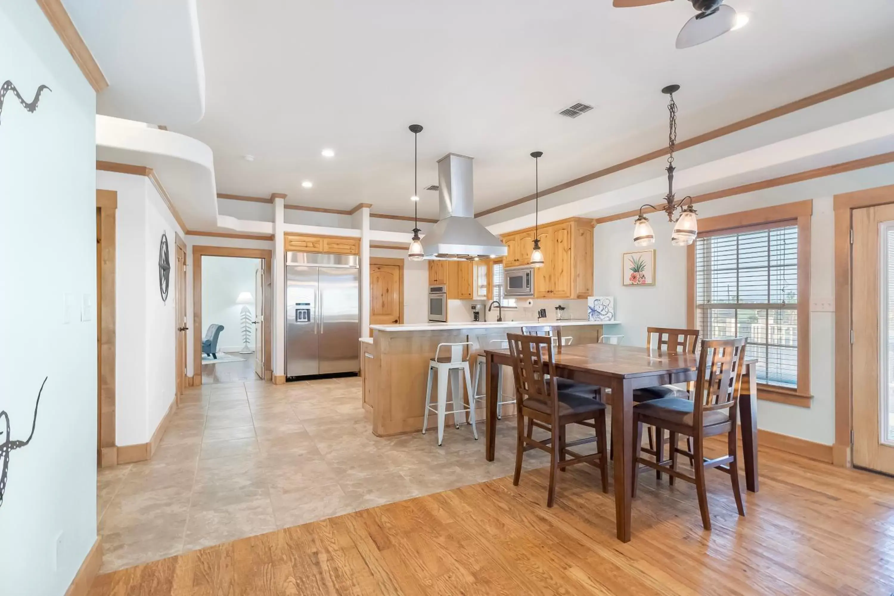
[[(117, 464), (115, 447), (115, 217), (118, 209), (118, 193), (114, 190), (97, 189), (100, 229), (100, 276), (101, 286), (97, 296), (99, 319), (99, 452), (100, 467)], [(104, 382), (105, 379), (105, 382)]]

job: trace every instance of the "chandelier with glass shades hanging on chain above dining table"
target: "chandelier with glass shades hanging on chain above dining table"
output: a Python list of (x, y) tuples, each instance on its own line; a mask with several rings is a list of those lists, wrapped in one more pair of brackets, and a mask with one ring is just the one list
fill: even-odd
[[(662, 93), (671, 97), (668, 104), (668, 112), (670, 113), (670, 131), (668, 133), (668, 147), (671, 153), (668, 156), (668, 166), (665, 168), (668, 172), (668, 194), (664, 197), (665, 205), (657, 207), (654, 205), (644, 205), (639, 208), (639, 216), (633, 222), (633, 243), (637, 247), (647, 247), (655, 242), (655, 234), (652, 231), (652, 225), (649, 218), (643, 214), (645, 207), (652, 207), (654, 211), (664, 211), (668, 214), (668, 221), (674, 222), (673, 233), (671, 234), (671, 244), (676, 247), (685, 247), (692, 244), (698, 235), (698, 222), (696, 219), (696, 209), (692, 206), (692, 197), (683, 197), (677, 201), (673, 192), (673, 152), (677, 145), (677, 103), (673, 100), (673, 94), (679, 91), (679, 85), (668, 85), (662, 89)], [(686, 202), (687, 206), (683, 206)], [(677, 210), (679, 209), (679, 215)]]

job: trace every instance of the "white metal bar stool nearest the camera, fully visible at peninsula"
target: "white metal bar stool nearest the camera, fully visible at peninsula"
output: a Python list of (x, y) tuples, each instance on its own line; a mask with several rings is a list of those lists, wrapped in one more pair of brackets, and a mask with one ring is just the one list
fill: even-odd
[[(471, 341), (461, 343), (439, 343), (434, 350), (434, 358), (428, 361), (428, 388), (426, 389), (426, 414), (422, 420), (422, 434), (428, 430), (428, 412), (434, 411), (438, 415), (438, 445), (444, 439), (444, 416), (453, 415), (453, 424), (460, 428), (460, 415), (468, 412), (469, 423), (472, 424), (472, 435), (478, 439), (478, 429), (475, 427), (475, 393), (472, 391), (472, 376), (468, 371), (468, 360), (462, 355), (463, 348), (472, 347)], [(441, 348), (450, 348), (450, 356), (441, 356)], [(434, 371), (438, 373), (438, 403), (432, 407), (432, 379)], [(468, 392), (469, 407), (464, 407), (462, 390), (460, 390), (460, 371), (466, 375), (466, 391)], [(453, 409), (447, 411), (447, 381), (450, 379), (453, 390)], [(465, 416), (462, 416), (463, 422)]]

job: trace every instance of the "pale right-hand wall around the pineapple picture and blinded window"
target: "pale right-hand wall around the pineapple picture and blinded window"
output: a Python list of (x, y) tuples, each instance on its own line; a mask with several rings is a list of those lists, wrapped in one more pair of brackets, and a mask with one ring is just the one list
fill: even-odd
[[(883, 174), (880, 176), (880, 173)], [(737, 213), (765, 206), (813, 199), (811, 226), (812, 302), (832, 301), (834, 287), (832, 196), (894, 181), (890, 170), (870, 168), (859, 172), (808, 180), (777, 189), (709, 201), (696, 206), (699, 217)], [(887, 180), (887, 182), (885, 181)], [(621, 285), (622, 253), (634, 250), (633, 218), (599, 224), (595, 228), (595, 294), (616, 298), (616, 317), (623, 324), (612, 333), (625, 335), (623, 343), (645, 345), (648, 326), (686, 326), (686, 249), (671, 246), (672, 224), (662, 214), (650, 215), (655, 232), (656, 283), (651, 287)], [(824, 444), (834, 442), (834, 313), (810, 316), (810, 408), (769, 401), (758, 402), (758, 426), (772, 432)]]

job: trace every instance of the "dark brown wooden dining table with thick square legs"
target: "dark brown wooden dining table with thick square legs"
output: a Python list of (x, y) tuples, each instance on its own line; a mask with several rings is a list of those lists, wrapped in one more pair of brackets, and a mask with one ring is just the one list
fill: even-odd
[[(631, 490), (633, 488), (633, 390), (695, 381), (698, 357), (669, 354), (655, 348), (633, 348), (595, 343), (563, 346), (555, 352), (556, 375), (611, 390), (605, 395), (611, 406), (611, 441), (614, 448), (615, 520), (620, 541), (630, 541)], [(487, 399), (485, 457), (493, 461), (496, 444), (497, 383), (500, 366), (512, 365), (508, 349), (485, 350)], [(748, 491), (757, 482), (757, 374), (756, 358), (745, 361), (739, 388), (743, 464)]]

